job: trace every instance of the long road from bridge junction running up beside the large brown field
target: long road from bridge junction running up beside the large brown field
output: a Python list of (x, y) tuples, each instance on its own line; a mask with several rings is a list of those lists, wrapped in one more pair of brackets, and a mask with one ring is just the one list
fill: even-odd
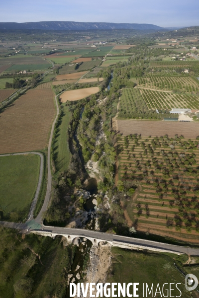
[(54, 132), (54, 127), (55, 127), (55, 123), (57, 121), (57, 117), (59, 114), (59, 106), (57, 103), (57, 96), (55, 96), (55, 102), (56, 102), (56, 107), (57, 107), (57, 115), (55, 117), (55, 120), (53, 121), (53, 125), (52, 125), (52, 129), (51, 129), (51, 133), (50, 133), (50, 139), (49, 139), (49, 143), (48, 143), (48, 157), (47, 157), (47, 165), (48, 165), (48, 182), (47, 182), (47, 189), (46, 189), (46, 196), (44, 199), (44, 203), (43, 206), (38, 214), (38, 216), (36, 217), (35, 221), (36, 223), (42, 223), (43, 222), (43, 214), (46, 211), (47, 207), (48, 207), (48, 203), (50, 201), (50, 194), (51, 194), (51, 185), (52, 185), (52, 174), (51, 174), (51, 144), (52, 144), (52, 138), (53, 138), (53, 132)]

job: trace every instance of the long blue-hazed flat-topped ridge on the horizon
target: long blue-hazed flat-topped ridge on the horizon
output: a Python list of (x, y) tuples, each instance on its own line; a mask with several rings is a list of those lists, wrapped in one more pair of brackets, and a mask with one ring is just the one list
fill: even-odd
[(135, 30), (155, 30), (167, 31), (167, 29), (152, 24), (128, 24), (128, 23), (85, 23), (69, 21), (47, 21), (47, 22), (27, 22), (27, 23), (2, 23), (0, 30), (95, 30), (95, 29), (135, 29)]

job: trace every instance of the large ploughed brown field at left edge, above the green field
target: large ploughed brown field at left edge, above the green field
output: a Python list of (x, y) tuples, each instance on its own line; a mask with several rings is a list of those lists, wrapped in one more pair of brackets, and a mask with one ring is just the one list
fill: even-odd
[(55, 115), (53, 92), (30, 89), (0, 113), (0, 153), (44, 149)]

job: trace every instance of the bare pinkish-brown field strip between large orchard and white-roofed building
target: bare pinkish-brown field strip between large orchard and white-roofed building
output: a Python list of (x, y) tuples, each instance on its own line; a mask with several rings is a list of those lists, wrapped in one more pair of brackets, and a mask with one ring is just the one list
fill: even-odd
[(199, 124), (196, 122), (150, 121), (150, 120), (117, 120), (118, 132), (124, 136), (141, 134), (142, 136), (171, 138), (176, 134), (185, 138), (196, 139), (199, 136)]

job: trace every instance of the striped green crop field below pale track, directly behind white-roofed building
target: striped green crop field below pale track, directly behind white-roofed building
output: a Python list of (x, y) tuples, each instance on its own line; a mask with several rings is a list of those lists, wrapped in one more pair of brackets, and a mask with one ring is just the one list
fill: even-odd
[(140, 89), (140, 92), (149, 109), (199, 109), (198, 96), (175, 94), (172, 92), (161, 92), (149, 89)]

